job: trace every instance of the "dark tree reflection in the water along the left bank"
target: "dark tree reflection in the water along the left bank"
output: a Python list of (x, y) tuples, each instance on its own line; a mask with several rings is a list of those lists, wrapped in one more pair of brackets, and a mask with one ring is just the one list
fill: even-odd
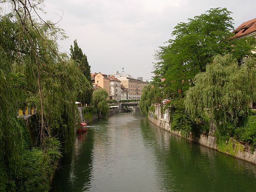
[[(92, 174), (93, 130), (76, 137), (73, 151), (65, 154), (52, 182), (54, 191), (87, 190)], [(81, 181), (82, 180), (82, 181)]]

